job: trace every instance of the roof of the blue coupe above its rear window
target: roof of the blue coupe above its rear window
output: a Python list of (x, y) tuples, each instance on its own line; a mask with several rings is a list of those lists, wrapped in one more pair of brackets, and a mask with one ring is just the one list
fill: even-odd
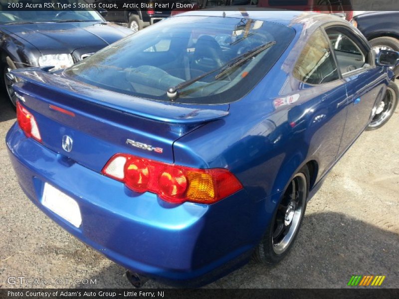
[[(225, 8), (225, 7), (224, 7)], [(179, 16), (219, 16), (219, 17), (232, 17), (232, 18), (249, 18), (254, 20), (274, 22), (285, 26), (292, 26), (296, 23), (309, 23), (312, 19), (314, 21), (331, 22), (331, 21), (342, 21), (343, 23), (348, 22), (341, 17), (327, 13), (318, 13), (310, 11), (300, 10), (282, 10), (282, 9), (267, 9), (258, 8), (245, 10), (245, 7), (238, 9), (223, 10), (223, 8), (209, 8), (187, 11), (174, 15), (173, 17)], [(312, 23), (312, 22), (310, 22)], [(320, 23), (319, 23), (320, 24)]]

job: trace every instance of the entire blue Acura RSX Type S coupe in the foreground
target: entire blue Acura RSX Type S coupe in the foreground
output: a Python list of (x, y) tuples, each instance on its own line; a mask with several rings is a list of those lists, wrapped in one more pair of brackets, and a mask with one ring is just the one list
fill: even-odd
[(65, 70), (12, 71), (6, 143), (68, 232), (131, 273), (200, 286), (287, 254), (326, 173), (392, 115), (398, 55), (331, 15), (183, 13)]

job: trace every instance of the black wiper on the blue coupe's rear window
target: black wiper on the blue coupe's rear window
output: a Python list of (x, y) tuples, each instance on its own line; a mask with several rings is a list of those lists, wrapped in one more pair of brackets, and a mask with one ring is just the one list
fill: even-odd
[(199, 81), (200, 79), (202, 79), (203, 77), (206, 77), (214, 72), (217, 72), (218, 70), (220, 70), (219, 73), (217, 73), (217, 75), (215, 76), (215, 80), (218, 80), (219, 78), (223, 77), (225, 74), (227, 74), (228, 72), (230, 72), (232, 69), (236, 68), (237, 66), (243, 64), (245, 61), (247, 61), (248, 59), (256, 56), (257, 54), (259, 54), (260, 52), (270, 48), (271, 46), (273, 46), (276, 42), (275, 41), (269, 41), (263, 45), (260, 45), (252, 50), (249, 50), (233, 59), (231, 59), (230, 61), (228, 61), (227, 63), (225, 63), (224, 65), (213, 69), (209, 72), (206, 72), (198, 77), (195, 77), (191, 80), (188, 81), (184, 81), (174, 87), (171, 87), (168, 89), (167, 92), (167, 96), (170, 99), (175, 99), (179, 96), (179, 90), (183, 89), (187, 86), (192, 85), (193, 83)]

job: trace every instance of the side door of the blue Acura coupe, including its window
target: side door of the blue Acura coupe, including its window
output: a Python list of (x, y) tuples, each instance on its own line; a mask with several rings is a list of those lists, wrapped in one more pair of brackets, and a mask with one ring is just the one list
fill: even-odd
[(342, 77), (346, 81), (348, 115), (340, 146), (345, 151), (369, 124), (376, 99), (385, 91), (384, 76), (367, 44), (350, 28), (326, 29)]

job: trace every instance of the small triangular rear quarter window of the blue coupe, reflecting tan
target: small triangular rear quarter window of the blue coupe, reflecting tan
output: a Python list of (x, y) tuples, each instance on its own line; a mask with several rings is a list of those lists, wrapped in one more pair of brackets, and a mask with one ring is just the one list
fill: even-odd
[(330, 43), (321, 29), (317, 29), (309, 38), (295, 64), (293, 75), (309, 84), (322, 84), (339, 79)]

